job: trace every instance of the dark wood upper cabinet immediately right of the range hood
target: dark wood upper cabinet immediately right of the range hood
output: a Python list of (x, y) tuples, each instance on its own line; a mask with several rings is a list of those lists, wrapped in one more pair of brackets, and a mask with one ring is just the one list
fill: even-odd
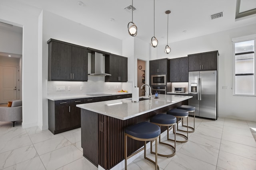
[(105, 82), (128, 81), (128, 58), (116, 55), (105, 55)]

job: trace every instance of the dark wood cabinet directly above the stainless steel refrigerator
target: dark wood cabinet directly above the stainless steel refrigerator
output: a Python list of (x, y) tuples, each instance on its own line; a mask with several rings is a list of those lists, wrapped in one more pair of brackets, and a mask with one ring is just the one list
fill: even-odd
[(217, 70), (218, 51), (188, 55), (188, 70)]

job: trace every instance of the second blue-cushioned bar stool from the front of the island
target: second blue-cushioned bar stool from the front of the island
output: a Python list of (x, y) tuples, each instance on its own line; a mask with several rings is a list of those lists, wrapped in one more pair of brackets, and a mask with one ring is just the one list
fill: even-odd
[[(150, 119), (151, 123), (154, 123), (154, 124), (158, 125), (160, 128), (161, 128), (161, 126), (167, 126), (167, 139), (168, 140), (171, 140), (171, 139), (169, 139), (169, 127), (173, 126), (173, 128), (174, 128), (174, 146), (172, 146), (168, 143), (161, 142), (161, 134), (159, 135), (159, 143), (171, 147), (172, 150), (173, 150), (173, 153), (172, 154), (160, 154), (160, 153), (158, 153), (158, 156), (172, 157), (172, 156), (175, 155), (175, 153), (176, 153), (176, 131), (175, 131), (176, 121), (177, 121), (177, 119), (176, 119), (175, 116), (167, 115), (167, 114), (158, 114), (158, 115), (153, 116)], [(152, 142), (150, 143), (150, 145), (151, 145), (150, 152), (152, 154), (156, 154), (155, 152), (152, 151)]]

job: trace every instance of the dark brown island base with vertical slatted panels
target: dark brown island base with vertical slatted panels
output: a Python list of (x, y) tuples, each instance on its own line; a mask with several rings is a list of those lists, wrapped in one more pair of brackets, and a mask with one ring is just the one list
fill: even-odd
[[(150, 117), (166, 113), (166, 111), (182, 105), (182, 102), (150, 111), (143, 115), (120, 120), (86, 109), (81, 109), (81, 145), (83, 155), (95, 166), (109, 170), (124, 160), (124, 129), (142, 121), (150, 121)], [(127, 109), (127, 108), (126, 108)], [(166, 127), (161, 127), (164, 132)], [(142, 141), (128, 138), (128, 154), (142, 147)]]

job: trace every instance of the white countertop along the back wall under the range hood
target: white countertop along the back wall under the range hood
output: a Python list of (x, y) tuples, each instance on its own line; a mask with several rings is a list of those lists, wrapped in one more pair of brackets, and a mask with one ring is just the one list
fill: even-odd
[[(103, 93), (102, 93), (103, 94)], [(69, 99), (79, 99), (79, 98), (96, 98), (96, 97), (102, 97), (102, 96), (114, 96), (114, 95), (124, 95), (124, 94), (132, 94), (132, 93), (125, 93), (125, 92), (121, 92), (121, 93), (104, 93), (104, 95), (97, 95), (97, 96), (92, 96), (92, 95), (76, 95), (76, 96), (47, 96), (47, 99), (49, 100), (69, 100)]]

